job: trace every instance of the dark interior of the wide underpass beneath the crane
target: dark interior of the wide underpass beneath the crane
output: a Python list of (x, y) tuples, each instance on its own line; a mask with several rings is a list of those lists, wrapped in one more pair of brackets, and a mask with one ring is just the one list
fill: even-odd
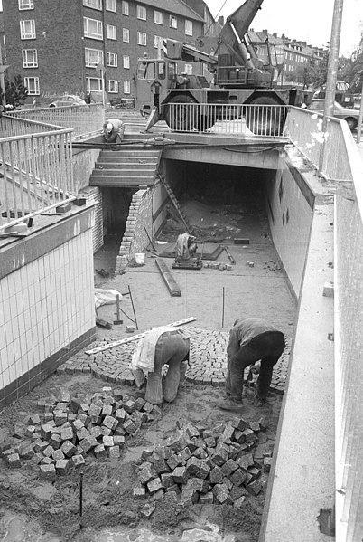
[(269, 170), (170, 162), (170, 182), (193, 225), (205, 233), (217, 229), (217, 236), (247, 237), (251, 242), (268, 237), (265, 183)]

